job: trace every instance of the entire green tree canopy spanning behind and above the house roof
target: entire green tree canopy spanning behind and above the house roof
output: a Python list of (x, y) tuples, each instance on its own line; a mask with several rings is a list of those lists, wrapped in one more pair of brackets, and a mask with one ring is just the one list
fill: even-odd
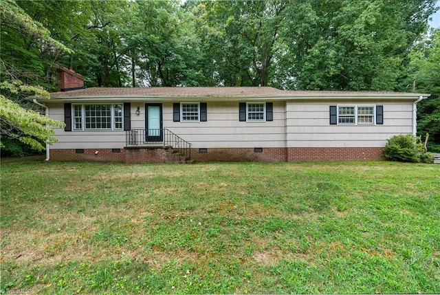
[(5, 0), (0, 56), (14, 78), (49, 91), (59, 64), (82, 74), (87, 87), (436, 94), (438, 32), (428, 34), (435, 3)]

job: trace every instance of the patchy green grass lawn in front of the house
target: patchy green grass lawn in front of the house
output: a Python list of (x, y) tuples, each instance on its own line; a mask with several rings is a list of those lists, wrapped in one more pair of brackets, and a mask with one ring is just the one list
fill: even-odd
[(1, 163), (1, 292), (439, 293), (440, 165)]

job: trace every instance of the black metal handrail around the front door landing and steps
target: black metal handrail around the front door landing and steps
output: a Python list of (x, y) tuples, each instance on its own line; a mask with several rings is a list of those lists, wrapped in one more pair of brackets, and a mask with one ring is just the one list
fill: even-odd
[(191, 160), (191, 145), (169, 129), (131, 129), (125, 131), (126, 146), (164, 146), (178, 151), (186, 160)]

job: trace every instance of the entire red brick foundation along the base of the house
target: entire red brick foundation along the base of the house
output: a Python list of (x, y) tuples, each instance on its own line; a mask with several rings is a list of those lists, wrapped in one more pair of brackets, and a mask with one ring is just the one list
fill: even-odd
[[(116, 163), (181, 163), (184, 160), (173, 150), (167, 149), (51, 149), (52, 161), (116, 162)], [(81, 151), (81, 150), (80, 150)], [(98, 151), (98, 153), (96, 153)], [(254, 148), (191, 149), (195, 162), (305, 162), (305, 161), (375, 161), (385, 160), (382, 148)]]

